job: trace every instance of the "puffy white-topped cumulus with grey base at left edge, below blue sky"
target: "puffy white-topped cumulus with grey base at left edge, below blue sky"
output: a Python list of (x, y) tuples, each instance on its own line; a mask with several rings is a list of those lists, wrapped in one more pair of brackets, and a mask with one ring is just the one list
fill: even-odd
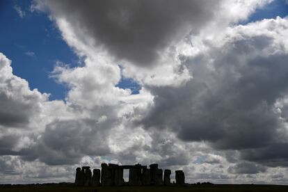
[(12, 74), (11, 61), (0, 53), (0, 125), (24, 127), (31, 116), (40, 113), (40, 102), (47, 99), (37, 89), (30, 90), (27, 81)]

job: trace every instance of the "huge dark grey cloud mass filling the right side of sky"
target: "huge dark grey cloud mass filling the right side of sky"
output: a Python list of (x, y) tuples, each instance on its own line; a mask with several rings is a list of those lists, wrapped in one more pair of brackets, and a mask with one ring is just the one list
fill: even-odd
[[(183, 141), (206, 141), (217, 150), (240, 152), (287, 139), (280, 134), (285, 125), (274, 104), (288, 93), (288, 54), (266, 52), (273, 47), (271, 36), (229, 38), (206, 55), (181, 58), (193, 74), (184, 86), (147, 87), (155, 97), (152, 110), (140, 122), (145, 129), (168, 129)], [(211, 60), (213, 69), (207, 65)], [(246, 152), (243, 159), (273, 157), (260, 151), (257, 157)], [(283, 166), (287, 153), (276, 151), (271, 163)]]

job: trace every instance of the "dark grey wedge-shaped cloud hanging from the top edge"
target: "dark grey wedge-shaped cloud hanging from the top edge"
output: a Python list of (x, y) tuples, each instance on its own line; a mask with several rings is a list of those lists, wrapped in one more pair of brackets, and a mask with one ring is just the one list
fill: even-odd
[(207, 24), (221, 1), (46, 1), (55, 17), (94, 38), (112, 56), (153, 65), (163, 48)]

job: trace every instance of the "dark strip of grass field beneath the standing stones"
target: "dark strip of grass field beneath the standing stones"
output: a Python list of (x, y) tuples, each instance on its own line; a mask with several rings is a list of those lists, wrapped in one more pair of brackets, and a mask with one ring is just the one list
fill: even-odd
[(191, 185), (191, 186), (99, 186), (99, 187), (79, 187), (79, 186), (58, 186), (58, 185), (33, 185), (33, 186), (0, 186), (2, 192), (25, 192), (25, 191), (83, 191), (83, 192), (144, 192), (144, 191), (288, 191), (288, 186), (278, 185)]

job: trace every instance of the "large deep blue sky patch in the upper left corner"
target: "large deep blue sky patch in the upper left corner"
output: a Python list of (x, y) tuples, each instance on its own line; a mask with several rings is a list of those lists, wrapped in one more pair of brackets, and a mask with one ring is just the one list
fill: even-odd
[(31, 1), (1, 1), (0, 51), (12, 60), (13, 73), (31, 89), (64, 99), (67, 88), (49, 78), (56, 61), (78, 65), (79, 58), (63, 41), (47, 15), (30, 11)]

